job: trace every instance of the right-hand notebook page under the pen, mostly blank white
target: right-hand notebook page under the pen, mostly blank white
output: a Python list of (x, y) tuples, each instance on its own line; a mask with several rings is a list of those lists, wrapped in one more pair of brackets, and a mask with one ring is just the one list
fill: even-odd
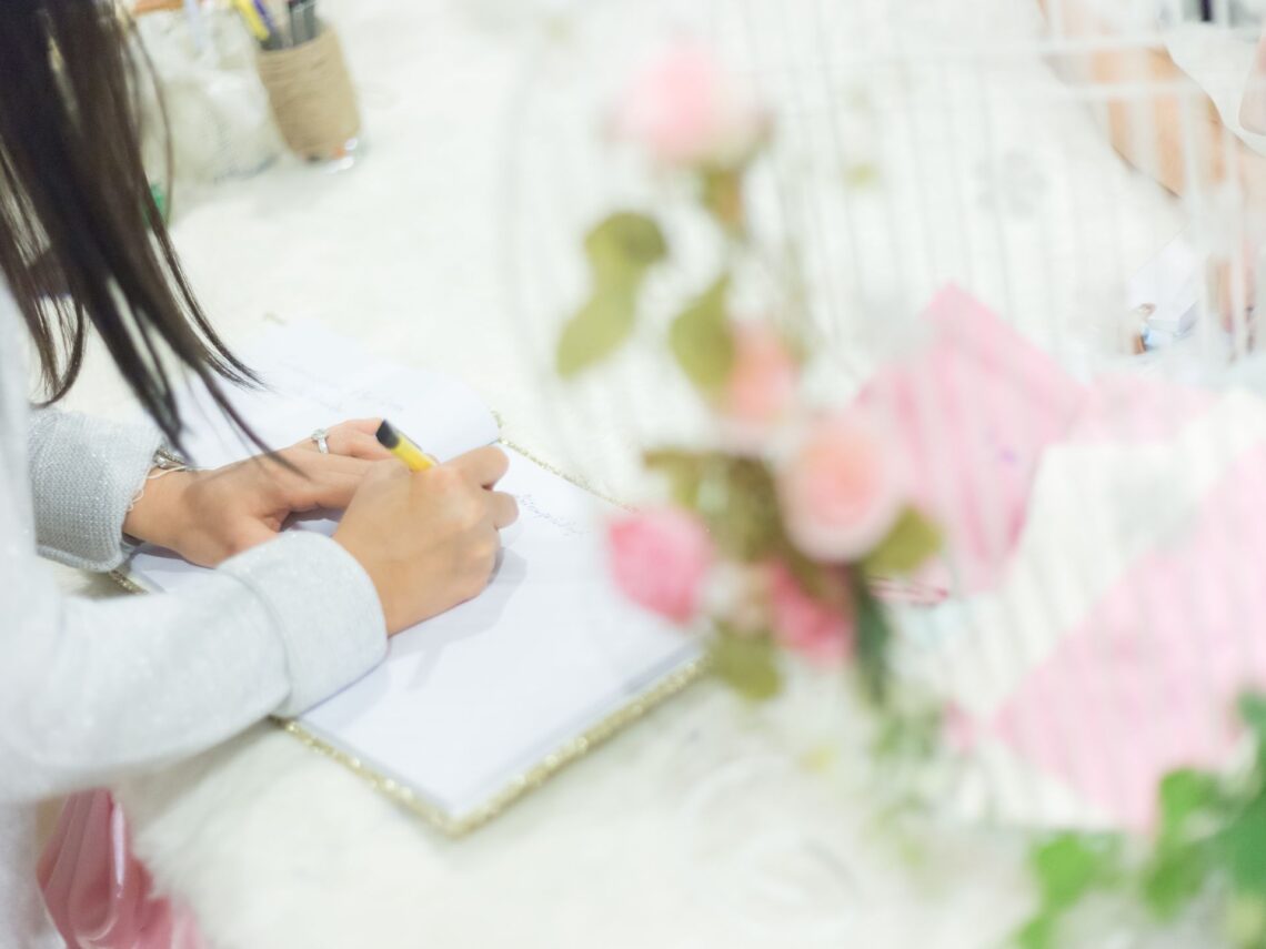
[(509, 454), (523, 530), (487, 591), (300, 719), (456, 816), (699, 653), (613, 587), (595, 529), (609, 505)]

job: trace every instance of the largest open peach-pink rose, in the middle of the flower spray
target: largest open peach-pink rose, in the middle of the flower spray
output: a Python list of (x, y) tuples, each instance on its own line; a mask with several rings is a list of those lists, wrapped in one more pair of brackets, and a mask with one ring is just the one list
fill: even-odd
[(779, 471), (791, 542), (809, 557), (852, 562), (874, 550), (905, 502), (896, 457), (860, 409), (813, 423)]

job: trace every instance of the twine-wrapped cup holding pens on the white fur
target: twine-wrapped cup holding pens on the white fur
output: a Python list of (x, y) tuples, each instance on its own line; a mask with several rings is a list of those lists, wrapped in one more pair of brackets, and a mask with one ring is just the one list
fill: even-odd
[(301, 46), (260, 51), (257, 65), (290, 149), (308, 161), (351, 164), (361, 113), (338, 34), (322, 24)]

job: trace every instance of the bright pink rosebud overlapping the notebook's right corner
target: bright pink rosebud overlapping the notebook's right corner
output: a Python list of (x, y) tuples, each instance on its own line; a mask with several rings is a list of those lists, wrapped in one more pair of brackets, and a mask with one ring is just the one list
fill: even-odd
[(608, 528), (615, 583), (633, 602), (675, 623), (698, 612), (713, 543), (695, 515), (660, 507)]

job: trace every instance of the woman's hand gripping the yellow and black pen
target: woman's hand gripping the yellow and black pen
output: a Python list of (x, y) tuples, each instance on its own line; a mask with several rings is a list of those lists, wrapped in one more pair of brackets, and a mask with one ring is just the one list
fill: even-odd
[(398, 461), (379, 462), (365, 477), (334, 540), (373, 581), (389, 634), (487, 586), (498, 530), (519, 516), (514, 499), (492, 490), (508, 467), (503, 450), (480, 448), (417, 473)]

